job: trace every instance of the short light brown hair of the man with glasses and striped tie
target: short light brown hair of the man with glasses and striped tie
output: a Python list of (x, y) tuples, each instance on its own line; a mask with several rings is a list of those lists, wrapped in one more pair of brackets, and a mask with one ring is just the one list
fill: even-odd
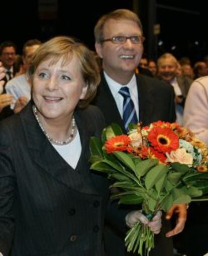
[(133, 13), (130, 10), (127, 9), (118, 9), (116, 11), (113, 11), (109, 14), (103, 15), (96, 23), (94, 27), (94, 38), (95, 41), (100, 43), (104, 38), (103, 36), (103, 28), (106, 24), (106, 22), (110, 19), (113, 20), (130, 20), (139, 26), (141, 29), (142, 35), (143, 35), (143, 29), (142, 29), (142, 23), (139, 19), (139, 17), (136, 15), (136, 13)]

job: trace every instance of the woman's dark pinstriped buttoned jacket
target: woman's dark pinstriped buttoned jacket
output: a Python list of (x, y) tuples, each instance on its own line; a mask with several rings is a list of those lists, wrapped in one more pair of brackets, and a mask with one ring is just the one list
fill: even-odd
[[(8, 256), (100, 256), (108, 182), (89, 171), (100, 111), (75, 111), (82, 152), (71, 168), (46, 139), (31, 103), (0, 125), (0, 251)], [(73, 156), (72, 156), (73, 157)], [(11, 245), (12, 244), (12, 245)]]

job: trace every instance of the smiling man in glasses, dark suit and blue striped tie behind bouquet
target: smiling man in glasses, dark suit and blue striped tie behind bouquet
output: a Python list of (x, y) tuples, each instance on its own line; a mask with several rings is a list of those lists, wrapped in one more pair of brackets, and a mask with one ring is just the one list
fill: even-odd
[[(135, 74), (143, 53), (143, 31), (138, 16), (129, 10), (116, 10), (99, 19), (94, 35), (96, 52), (102, 59), (103, 68), (94, 104), (101, 109), (107, 124), (117, 122), (125, 131), (128, 122), (142, 121), (143, 125), (156, 120), (173, 122), (173, 88), (157, 79)], [(127, 108), (130, 113), (126, 116)], [(179, 211), (178, 222), (166, 234), (168, 237), (181, 232), (184, 227), (184, 205), (173, 206), (168, 218), (176, 209)], [(151, 255), (171, 256), (173, 253), (172, 241), (165, 237), (170, 228), (165, 226), (166, 230), (163, 228), (161, 235), (156, 237), (156, 248)], [(126, 255), (123, 237), (116, 232), (112, 227), (107, 229), (108, 256)]]

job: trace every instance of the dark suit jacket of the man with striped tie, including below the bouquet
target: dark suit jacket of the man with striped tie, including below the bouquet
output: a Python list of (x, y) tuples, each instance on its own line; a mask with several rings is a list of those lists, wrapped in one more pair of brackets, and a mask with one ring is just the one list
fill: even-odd
[[(157, 120), (174, 122), (176, 116), (172, 86), (156, 78), (144, 75), (136, 75), (136, 79), (139, 97), (139, 117), (142, 124), (148, 125)], [(103, 73), (101, 73), (101, 82), (93, 104), (100, 108), (108, 125), (116, 122), (124, 130), (123, 120)], [(123, 209), (120, 212), (122, 213), (122, 211)], [(161, 233), (156, 236), (156, 248), (150, 253), (151, 256), (172, 255), (172, 240), (165, 238), (165, 233), (169, 230), (170, 224), (164, 219)], [(106, 228), (105, 234), (107, 255), (126, 255), (123, 234), (119, 233), (114, 227), (112, 228), (111, 225)]]

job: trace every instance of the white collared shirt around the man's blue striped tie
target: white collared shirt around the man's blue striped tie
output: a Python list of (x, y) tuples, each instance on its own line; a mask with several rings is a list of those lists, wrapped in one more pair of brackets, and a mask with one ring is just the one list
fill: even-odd
[(136, 76), (134, 75), (132, 77), (132, 79), (130, 80), (130, 82), (126, 85), (121, 85), (119, 83), (117, 83), (116, 81), (114, 81), (112, 78), (110, 78), (106, 72), (104, 71), (104, 76), (106, 78), (106, 81), (109, 85), (109, 88), (111, 90), (111, 93), (116, 101), (119, 113), (121, 115), (121, 117), (123, 118), (123, 102), (124, 102), (124, 97), (119, 93), (119, 90), (126, 86), (129, 88), (129, 92), (131, 95), (131, 99), (134, 103), (134, 107), (137, 113), (137, 118), (139, 120), (139, 99), (138, 99), (138, 90), (137, 90), (137, 81), (136, 81)]

